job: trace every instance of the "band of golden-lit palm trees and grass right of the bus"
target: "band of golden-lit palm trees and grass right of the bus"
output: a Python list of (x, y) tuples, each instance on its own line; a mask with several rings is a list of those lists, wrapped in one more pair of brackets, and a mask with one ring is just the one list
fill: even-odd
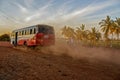
[[(62, 28), (62, 35), (82, 45), (120, 48), (120, 18), (112, 20), (107, 16), (99, 22), (99, 25), (99, 29), (92, 27), (90, 30), (85, 29), (84, 24), (75, 29), (65, 26)], [(115, 36), (116, 39), (114, 39)]]

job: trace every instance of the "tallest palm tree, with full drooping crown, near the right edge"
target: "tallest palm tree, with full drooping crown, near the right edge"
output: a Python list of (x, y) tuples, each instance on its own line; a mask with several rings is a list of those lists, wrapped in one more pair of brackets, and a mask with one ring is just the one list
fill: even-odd
[(106, 19), (103, 19), (101, 22), (99, 22), (99, 25), (101, 27), (101, 30), (104, 32), (104, 38), (108, 40), (108, 35), (113, 27), (113, 21), (110, 19), (110, 16), (107, 16)]

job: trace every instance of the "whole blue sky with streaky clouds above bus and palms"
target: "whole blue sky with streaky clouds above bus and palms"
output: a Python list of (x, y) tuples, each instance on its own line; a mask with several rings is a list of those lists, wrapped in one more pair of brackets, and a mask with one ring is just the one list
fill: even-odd
[(87, 28), (120, 17), (120, 0), (0, 0), (0, 34), (35, 24)]

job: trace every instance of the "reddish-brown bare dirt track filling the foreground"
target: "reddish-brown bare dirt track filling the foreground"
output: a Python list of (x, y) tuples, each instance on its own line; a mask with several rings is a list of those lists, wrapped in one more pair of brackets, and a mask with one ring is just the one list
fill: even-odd
[(0, 46), (0, 80), (120, 80), (120, 65)]

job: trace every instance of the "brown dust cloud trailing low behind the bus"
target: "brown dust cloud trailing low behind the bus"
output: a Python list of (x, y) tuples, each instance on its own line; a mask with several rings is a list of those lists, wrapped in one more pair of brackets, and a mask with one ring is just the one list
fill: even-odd
[(80, 44), (68, 44), (63, 40), (57, 40), (54, 46), (41, 48), (42, 53), (54, 55), (68, 55), (74, 59), (85, 58), (89, 61), (108, 61), (120, 64), (120, 50), (103, 47), (85, 47)]

